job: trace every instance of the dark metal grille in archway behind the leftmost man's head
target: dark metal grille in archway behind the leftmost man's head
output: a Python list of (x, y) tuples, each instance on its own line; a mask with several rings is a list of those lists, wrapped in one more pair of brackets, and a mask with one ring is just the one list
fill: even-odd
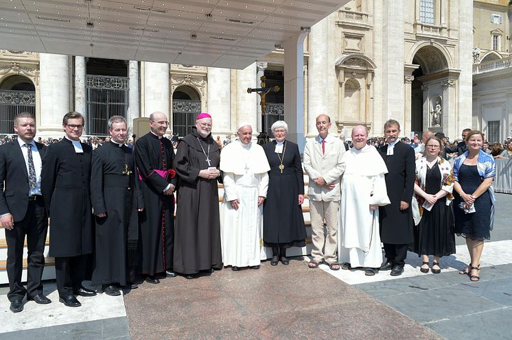
[(30, 112), (36, 117), (36, 93), (0, 90), (0, 134), (14, 134), (14, 117), (20, 112)]

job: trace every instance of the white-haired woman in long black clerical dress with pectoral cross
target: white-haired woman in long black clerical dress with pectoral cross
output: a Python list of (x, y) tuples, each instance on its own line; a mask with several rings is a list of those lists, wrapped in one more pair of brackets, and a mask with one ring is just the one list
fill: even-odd
[(270, 165), (263, 207), (263, 241), (266, 247), (272, 247), (270, 265), (277, 265), (279, 260), (288, 265), (286, 249), (304, 247), (306, 238), (301, 208), (304, 200), (301, 154), (295, 143), (286, 141), (286, 122), (277, 121), (270, 130), (275, 141), (263, 146)]

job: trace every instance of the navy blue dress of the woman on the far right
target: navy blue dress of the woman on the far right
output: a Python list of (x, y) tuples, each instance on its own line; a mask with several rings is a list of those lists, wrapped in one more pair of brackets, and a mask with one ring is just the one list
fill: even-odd
[[(463, 191), (472, 194), (482, 184), (476, 165), (462, 164), (458, 169), (458, 184)], [(491, 195), (486, 190), (475, 201), (475, 213), (466, 214), (461, 209), (461, 196), (454, 194), (455, 232), (458, 236), (478, 241), (491, 239)]]

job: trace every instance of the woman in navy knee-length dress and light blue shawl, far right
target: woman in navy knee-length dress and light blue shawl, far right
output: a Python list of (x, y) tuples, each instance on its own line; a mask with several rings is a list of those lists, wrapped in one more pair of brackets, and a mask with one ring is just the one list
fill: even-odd
[(492, 182), (496, 164), (492, 156), (482, 151), (484, 136), (471, 131), (466, 136), (467, 151), (454, 162), (455, 232), (466, 239), (471, 263), (460, 271), (469, 280), (480, 280), (480, 256), (484, 240), (491, 239), (494, 216)]

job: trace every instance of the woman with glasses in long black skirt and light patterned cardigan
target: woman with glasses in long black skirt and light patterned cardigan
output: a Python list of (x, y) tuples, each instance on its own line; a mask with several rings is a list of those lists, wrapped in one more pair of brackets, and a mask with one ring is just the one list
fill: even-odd
[(412, 204), (412, 216), (417, 225), (415, 252), (421, 256), (420, 271), (428, 273), (429, 255), (434, 256), (430, 270), (441, 273), (439, 258), (455, 253), (454, 219), (452, 215), (452, 191), (454, 173), (450, 162), (439, 157), (441, 140), (430, 137), (425, 143), (424, 156), (416, 161), (416, 202)]

